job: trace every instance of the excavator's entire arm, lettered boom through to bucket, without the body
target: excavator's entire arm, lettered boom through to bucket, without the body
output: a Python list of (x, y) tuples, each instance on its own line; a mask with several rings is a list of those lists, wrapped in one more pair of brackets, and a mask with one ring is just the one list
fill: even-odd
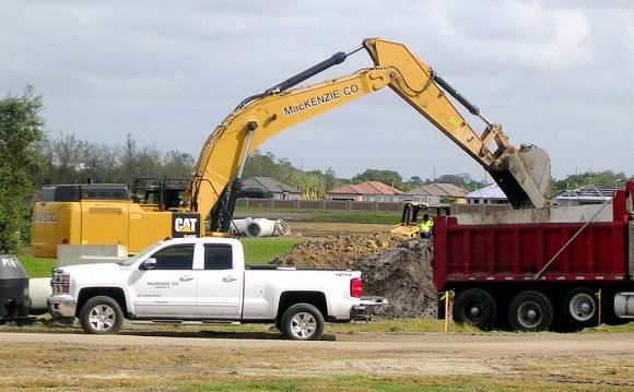
[[(291, 88), (344, 61), (350, 55), (339, 52), (265, 93), (245, 99), (207, 139), (184, 194), (184, 207), (199, 212), (202, 217), (214, 210), (211, 230), (226, 231), (248, 154), (269, 138), (296, 123), (385, 86), (395, 91), (481, 164), (514, 207), (544, 205), (550, 163), (543, 150), (535, 146), (517, 150), (512, 146), (501, 126), (481, 116), (476, 106), (403, 45), (369, 38), (364, 40), (363, 47), (369, 52), (375, 67)], [(481, 134), (473, 131), (442, 88), (486, 122), (486, 129)], [(493, 143), (495, 149), (491, 150)], [(232, 187), (227, 187), (230, 182)]]

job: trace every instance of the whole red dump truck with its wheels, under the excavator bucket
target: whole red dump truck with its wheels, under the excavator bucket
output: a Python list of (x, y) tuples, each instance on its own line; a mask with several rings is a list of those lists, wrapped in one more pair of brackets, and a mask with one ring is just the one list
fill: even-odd
[(483, 330), (632, 321), (633, 194), (629, 181), (608, 204), (435, 217), (434, 286), (455, 293), (456, 322)]

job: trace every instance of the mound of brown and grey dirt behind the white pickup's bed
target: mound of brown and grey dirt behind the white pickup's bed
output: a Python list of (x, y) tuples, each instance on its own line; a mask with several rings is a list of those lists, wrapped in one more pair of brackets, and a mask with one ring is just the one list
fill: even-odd
[(274, 262), (296, 268), (361, 270), (364, 295), (389, 300), (388, 306), (378, 308), (377, 316), (436, 316), (430, 240), (403, 241), (401, 236), (388, 233), (327, 236), (301, 243)]

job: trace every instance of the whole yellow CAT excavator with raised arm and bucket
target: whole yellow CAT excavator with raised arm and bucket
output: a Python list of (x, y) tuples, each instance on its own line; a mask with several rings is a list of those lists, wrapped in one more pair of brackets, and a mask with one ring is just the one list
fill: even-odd
[[(374, 67), (295, 87), (364, 48)], [(294, 124), (386, 86), (476, 159), (498, 183), (515, 209), (545, 204), (544, 194), (550, 181), (550, 161), (545, 151), (535, 145), (519, 149), (510, 145), (502, 126), (486, 119), (477, 106), (406, 46), (368, 38), (348, 54), (338, 52), (243, 100), (204, 142), (178, 207), (144, 210), (143, 205), (131, 201), (108, 199), (106, 190), (99, 197), (87, 185), (49, 187), (43, 192), (47, 197), (34, 207), (33, 253), (55, 257), (58, 243), (118, 243), (134, 253), (166, 236), (228, 233), (242, 188), (244, 164), (250, 153)], [(447, 95), (478, 116), (485, 123), (484, 130), (476, 132)], [(202, 224), (206, 219), (207, 227)]]

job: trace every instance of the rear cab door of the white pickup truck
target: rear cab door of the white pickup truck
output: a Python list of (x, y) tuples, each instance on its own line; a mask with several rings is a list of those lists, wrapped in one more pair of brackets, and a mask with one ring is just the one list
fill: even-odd
[(232, 246), (206, 243), (204, 270), (196, 272), (198, 317), (239, 319), (244, 271), (234, 269)]

